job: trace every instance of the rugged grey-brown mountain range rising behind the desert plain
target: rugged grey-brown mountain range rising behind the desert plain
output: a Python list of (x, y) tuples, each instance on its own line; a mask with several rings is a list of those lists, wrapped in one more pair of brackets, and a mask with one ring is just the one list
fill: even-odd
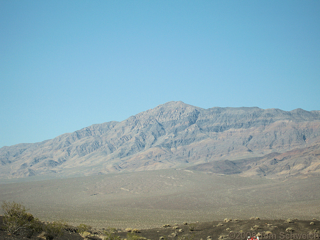
[[(320, 111), (203, 109), (171, 101), (121, 122), (94, 124), (51, 140), (0, 148), (0, 176), (95, 175), (224, 160), (223, 168), (230, 168), (225, 172), (286, 178), (318, 174), (319, 146)], [(278, 155), (264, 157), (270, 153)], [(259, 159), (235, 166), (231, 162), (254, 157)]]

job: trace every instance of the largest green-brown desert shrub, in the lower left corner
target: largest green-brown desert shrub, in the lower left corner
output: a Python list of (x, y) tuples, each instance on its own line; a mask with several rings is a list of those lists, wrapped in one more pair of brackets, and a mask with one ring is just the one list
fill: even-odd
[(34, 219), (27, 209), (15, 202), (3, 202), (1, 205), (4, 231), (11, 235), (27, 234), (33, 236), (38, 231), (38, 220)]

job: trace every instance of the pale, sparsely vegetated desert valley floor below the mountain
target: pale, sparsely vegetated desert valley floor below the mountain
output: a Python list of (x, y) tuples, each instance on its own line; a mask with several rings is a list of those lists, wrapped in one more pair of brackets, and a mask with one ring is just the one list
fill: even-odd
[(68, 179), (0, 182), (0, 200), (23, 203), (41, 220), (98, 228), (154, 228), (224, 218), (320, 215), (320, 177), (271, 180), (179, 169)]

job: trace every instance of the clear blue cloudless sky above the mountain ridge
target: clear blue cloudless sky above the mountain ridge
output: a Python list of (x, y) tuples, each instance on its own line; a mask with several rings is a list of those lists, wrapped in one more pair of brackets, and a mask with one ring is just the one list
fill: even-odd
[(171, 100), (320, 110), (320, 1), (0, 0), (0, 147)]

